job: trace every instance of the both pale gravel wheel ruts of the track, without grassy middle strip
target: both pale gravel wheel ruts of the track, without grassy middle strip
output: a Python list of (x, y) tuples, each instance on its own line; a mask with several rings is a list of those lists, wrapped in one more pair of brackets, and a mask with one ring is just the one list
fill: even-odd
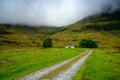
[[(87, 53), (87, 54), (86, 54)], [(53, 76), (52, 79), (41, 79), (41, 77), (47, 75), (48, 73), (53, 72), (55, 69), (69, 63), (70, 61), (79, 58), (80, 56), (82, 56), (83, 54), (80, 54), (78, 56), (75, 56), (69, 60), (63, 61), (61, 63), (52, 65), (50, 67), (38, 70), (36, 72), (30, 73), (26, 76), (17, 78), (15, 80), (71, 80), (72, 77), (75, 75), (75, 73), (77, 72), (77, 70), (79, 69), (79, 67), (82, 65), (82, 63), (85, 61), (85, 59), (87, 59), (87, 57), (92, 53), (92, 51), (86, 51), (83, 54), (85, 56), (83, 56), (82, 58), (80, 58), (77, 62), (73, 63), (68, 69), (66, 69), (65, 71), (60, 71), (58, 72), (58, 74), (55, 74)]]

